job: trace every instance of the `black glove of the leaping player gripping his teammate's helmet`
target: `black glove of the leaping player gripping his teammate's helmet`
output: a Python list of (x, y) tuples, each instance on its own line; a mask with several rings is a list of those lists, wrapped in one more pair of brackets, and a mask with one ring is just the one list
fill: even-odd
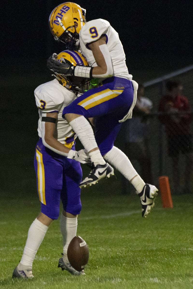
[(62, 62), (57, 61), (57, 54), (53, 53), (47, 61), (47, 67), (56, 73), (63, 74), (66, 76), (73, 75), (73, 68), (71, 68), (71, 65), (66, 63), (64, 60)]

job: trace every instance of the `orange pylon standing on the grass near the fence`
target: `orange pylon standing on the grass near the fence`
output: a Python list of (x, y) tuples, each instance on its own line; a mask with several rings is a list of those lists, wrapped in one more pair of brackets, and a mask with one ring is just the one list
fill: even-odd
[(168, 176), (159, 177), (159, 189), (163, 208), (173, 208)]

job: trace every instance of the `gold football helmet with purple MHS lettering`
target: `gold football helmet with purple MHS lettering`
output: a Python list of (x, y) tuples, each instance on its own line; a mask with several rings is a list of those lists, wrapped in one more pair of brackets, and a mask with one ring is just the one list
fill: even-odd
[(49, 28), (55, 40), (66, 44), (67, 49), (78, 50), (79, 32), (85, 24), (86, 10), (73, 2), (54, 8), (49, 16)]

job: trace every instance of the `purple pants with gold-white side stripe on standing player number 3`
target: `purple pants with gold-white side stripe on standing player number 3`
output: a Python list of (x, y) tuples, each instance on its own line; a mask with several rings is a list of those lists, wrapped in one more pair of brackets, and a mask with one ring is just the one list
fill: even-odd
[(57, 219), (61, 199), (66, 212), (80, 214), (80, 163), (54, 153), (43, 145), (40, 138), (36, 144), (34, 168), (41, 212), (51, 219)]

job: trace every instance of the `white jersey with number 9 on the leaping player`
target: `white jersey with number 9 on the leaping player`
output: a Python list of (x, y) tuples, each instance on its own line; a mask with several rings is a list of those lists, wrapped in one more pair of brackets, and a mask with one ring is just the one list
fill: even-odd
[(91, 20), (81, 28), (79, 35), (80, 49), (89, 66), (97, 66), (97, 64), (92, 51), (88, 48), (88, 44), (104, 35), (106, 36), (106, 46), (111, 55), (114, 76), (132, 80), (132, 75), (128, 73), (125, 53), (119, 35), (108, 21), (104, 19)]

